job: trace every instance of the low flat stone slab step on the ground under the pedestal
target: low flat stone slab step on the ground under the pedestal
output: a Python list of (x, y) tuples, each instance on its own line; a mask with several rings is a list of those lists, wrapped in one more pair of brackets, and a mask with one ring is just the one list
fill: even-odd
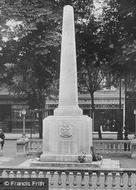
[(112, 159), (102, 159), (99, 161), (92, 161), (91, 163), (80, 163), (80, 162), (41, 162), (39, 158), (28, 159), (25, 162), (21, 163), (19, 167), (22, 168), (44, 168), (50, 171), (55, 169), (59, 171), (60, 169), (64, 170), (90, 170), (90, 169), (119, 169), (120, 162), (119, 160)]

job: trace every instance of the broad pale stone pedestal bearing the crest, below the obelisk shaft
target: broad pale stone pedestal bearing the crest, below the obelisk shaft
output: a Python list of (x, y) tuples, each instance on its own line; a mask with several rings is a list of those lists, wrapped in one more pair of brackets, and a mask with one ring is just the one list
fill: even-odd
[(77, 162), (86, 155), (92, 161), (91, 119), (88, 116), (50, 116), (43, 122), (43, 154), (41, 161)]

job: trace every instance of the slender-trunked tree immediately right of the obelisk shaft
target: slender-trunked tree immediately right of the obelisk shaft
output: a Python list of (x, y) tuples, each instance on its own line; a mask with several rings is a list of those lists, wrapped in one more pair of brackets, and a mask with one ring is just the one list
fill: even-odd
[(101, 20), (95, 18), (93, 10), (92, 4), (90, 13), (85, 11), (82, 19), (76, 22), (79, 85), (84, 85), (91, 96), (91, 117), (95, 110), (94, 92), (101, 88), (105, 80), (108, 62), (108, 54), (105, 53), (105, 44), (103, 44)]

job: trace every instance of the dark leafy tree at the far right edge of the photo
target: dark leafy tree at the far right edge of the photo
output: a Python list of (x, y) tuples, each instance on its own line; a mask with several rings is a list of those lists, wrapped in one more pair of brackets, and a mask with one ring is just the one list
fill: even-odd
[[(109, 66), (115, 77), (118, 76), (120, 81), (121, 79), (124, 79), (126, 97), (128, 79), (136, 76), (136, 12), (134, 8), (136, 2), (133, 0), (107, 2), (108, 8), (104, 11), (103, 28), (107, 38), (111, 39), (107, 40), (108, 45), (111, 43), (114, 49)], [(125, 121), (125, 125), (126, 124)], [(126, 128), (126, 126), (124, 127)]]

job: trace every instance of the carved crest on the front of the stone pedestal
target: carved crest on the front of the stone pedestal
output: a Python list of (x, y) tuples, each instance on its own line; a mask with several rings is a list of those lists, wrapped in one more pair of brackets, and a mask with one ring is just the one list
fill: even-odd
[(60, 128), (60, 136), (64, 138), (68, 138), (72, 136), (72, 128), (68, 122), (63, 122)]

